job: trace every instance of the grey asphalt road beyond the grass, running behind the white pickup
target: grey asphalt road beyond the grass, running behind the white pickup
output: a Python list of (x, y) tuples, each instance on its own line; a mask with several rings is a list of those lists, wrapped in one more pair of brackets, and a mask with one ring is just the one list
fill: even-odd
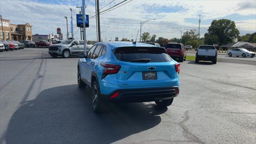
[[(189, 52), (187, 52), (187, 55), (189, 55), (189, 56), (196, 56), (196, 53), (189, 53)], [(253, 57), (253, 58), (250, 58), (250, 57), (243, 58), (242, 56), (239, 56), (239, 57), (236, 57), (236, 56), (229, 57), (228, 55), (220, 55), (219, 54), (218, 58), (220, 59), (219, 62), (229, 62), (229, 63), (256, 65), (256, 57)]]

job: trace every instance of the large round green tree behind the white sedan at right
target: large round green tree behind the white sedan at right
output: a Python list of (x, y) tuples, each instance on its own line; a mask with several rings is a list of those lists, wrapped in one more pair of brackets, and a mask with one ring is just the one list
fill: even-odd
[(213, 20), (211, 26), (208, 28), (208, 34), (216, 35), (220, 45), (234, 42), (238, 37), (239, 30), (236, 28), (234, 21), (228, 19)]

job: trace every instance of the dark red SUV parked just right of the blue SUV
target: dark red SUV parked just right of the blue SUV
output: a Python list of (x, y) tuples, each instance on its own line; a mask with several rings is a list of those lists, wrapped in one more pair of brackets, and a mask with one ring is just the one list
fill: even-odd
[(171, 56), (173, 59), (178, 59), (180, 62), (186, 60), (186, 49), (183, 44), (177, 43), (168, 43), (165, 46), (166, 53)]

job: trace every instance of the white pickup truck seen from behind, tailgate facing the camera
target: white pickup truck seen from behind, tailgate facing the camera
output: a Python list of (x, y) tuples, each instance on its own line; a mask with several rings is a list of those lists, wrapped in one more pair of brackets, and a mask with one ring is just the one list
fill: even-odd
[(217, 50), (214, 46), (200, 45), (196, 50), (196, 63), (199, 60), (212, 61), (212, 64), (217, 63)]

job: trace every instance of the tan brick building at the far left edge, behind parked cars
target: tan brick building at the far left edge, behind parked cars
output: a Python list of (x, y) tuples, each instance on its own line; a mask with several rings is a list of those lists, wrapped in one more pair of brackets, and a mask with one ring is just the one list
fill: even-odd
[(10, 24), (10, 20), (3, 21), (3, 31), (2, 33), (2, 22), (0, 21), (0, 33), (1, 40), (32, 40), (32, 26), (29, 23), (26, 24)]

